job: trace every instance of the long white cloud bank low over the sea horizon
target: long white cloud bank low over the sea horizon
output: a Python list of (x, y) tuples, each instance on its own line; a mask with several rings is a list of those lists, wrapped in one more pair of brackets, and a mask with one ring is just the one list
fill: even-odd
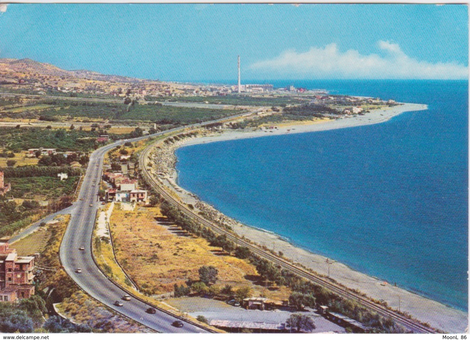
[(287, 50), (271, 60), (253, 63), (250, 69), (271, 76), (336, 79), (468, 79), (468, 67), (459, 63), (429, 63), (408, 57), (399, 47), (380, 40), (384, 56), (338, 50), (335, 43), (307, 52)]

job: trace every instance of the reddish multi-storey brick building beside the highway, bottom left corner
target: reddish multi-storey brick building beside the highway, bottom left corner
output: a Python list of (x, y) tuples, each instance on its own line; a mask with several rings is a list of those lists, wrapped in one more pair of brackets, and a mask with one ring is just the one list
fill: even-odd
[(15, 302), (34, 294), (34, 257), (18, 256), (8, 240), (0, 240), (0, 301)]

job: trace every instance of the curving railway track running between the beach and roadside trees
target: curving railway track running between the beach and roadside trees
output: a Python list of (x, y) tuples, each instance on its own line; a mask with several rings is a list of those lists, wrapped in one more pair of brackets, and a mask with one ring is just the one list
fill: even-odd
[(145, 160), (148, 158), (148, 154), (149, 154), (149, 151), (151, 149), (152, 149), (152, 145), (149, 145), (146, 149), (144, 149), (141, 152), (141, 155), (140, 155), (139, 163), (141, 164), (141, 171), (142, 171), (143, 176), (145, 177), (147, 182), (150, 183), (154, 187), (155, 190), (157, 190), (157, 192), (160, 195), (162, 195), (169, 202), (172, 202), (172, 204), (177, 206), (180, 210), (182, 210), (189, 217), (195, 219), (196, 221), (200, 222), (205, 227), (208, 227), (211, 230), (214, 230), (215, 232), (217, 232), (219, 234), (225, 234), (227, 236), (227, 238), (230, 239), (231, 241), (233, 241), (236, 245), (241, 245), (241, 246), (245, 246), (245, 247), (249, 248), (252, 253), (254, 253), (254, 254), (256, 254), (260, 257), (263, 257), (266, 260), (272, 261), (274, 264), (276, 264), (278, 266), (281, 266), (281, 268), (283, 268), (283, 269), (288, 269), (288, 270), (290, 270), (291, 272), (297, 274), (300, 277), (304, 277), (304, 278), (306, 278), (306, 279), (308, 279), (308, 280), (310, 280), (310, 281), (312, 281), (312, 282), (314, 282), (318, 285), (326, 287), (329, 290), (331, 290), (333, 293), (338, 294), (339, 296), (342, 296), (342, 297), (347, 298), (347, 299), (356, 300), (356, 301), (360, 302), (363, 306), (369, 308), (370, 310), (375, 311), (376, 313), (378, 313), (381, 316), (391, 317), (398, 324), (401, 324), (402, 326), (404, 326), (405, 328), (409, 329), (412, 332), (437, 333), (431, 327), (427, 327), (427, 326), (425, 326), (425, 325), (423, 325), (419, 322), (416, 322), (414, 320), (411, 320), (411, 319), (407, 318), (406, 316), (402, 316), (402, 315), (400, 315), (399, 313), (397, 313), (393, 310), (390, 310), (390, 309), (387, 309), (383, 306), (380, 306), (380, 305), (364, 298), (360, 294), (351, 292), (350, 290), (345, 289), (340, 285), (336, 285), (336, 284), (330, 282), (327, 279), (324, 279), (322, 277), (314, 275), (311, 272), (309, 272), (309, 271), (307, 271), (307, 270), (305, 270), (301, 267), (298, 267), (298, 266), (296, 266), (296, 265), (294, 265), (294, 264), (292, 264), (288, 261), (285, 261), (285, 260), (283, 260), (283, 259), (281, 259), (277, 256), (274, 256), (273, 254), (264, 251), (263, 249), (261, 249), (258, 246), (252, 245), (251, 243), (249, 243), (247, 241), (244, 241), (243, 239), (235, 237), (235, 236), (233, 236), (233, 234), (228, 232), (226, 229), (223, 229), (223, 228), (219, 227), (218, 225), (216, 225), (215, 223), (213, 223), (211, 221), (208, 221), (208, 220), (202, 218), (200, 215), (194, 213), (187, 206), (182, 204), (177, 199), (173, 198), (172, 195), (170, 195), (166, 190), (164, 190), (160, 186), (160, 184), (149, 174), (149, 171), (146, 168)]

